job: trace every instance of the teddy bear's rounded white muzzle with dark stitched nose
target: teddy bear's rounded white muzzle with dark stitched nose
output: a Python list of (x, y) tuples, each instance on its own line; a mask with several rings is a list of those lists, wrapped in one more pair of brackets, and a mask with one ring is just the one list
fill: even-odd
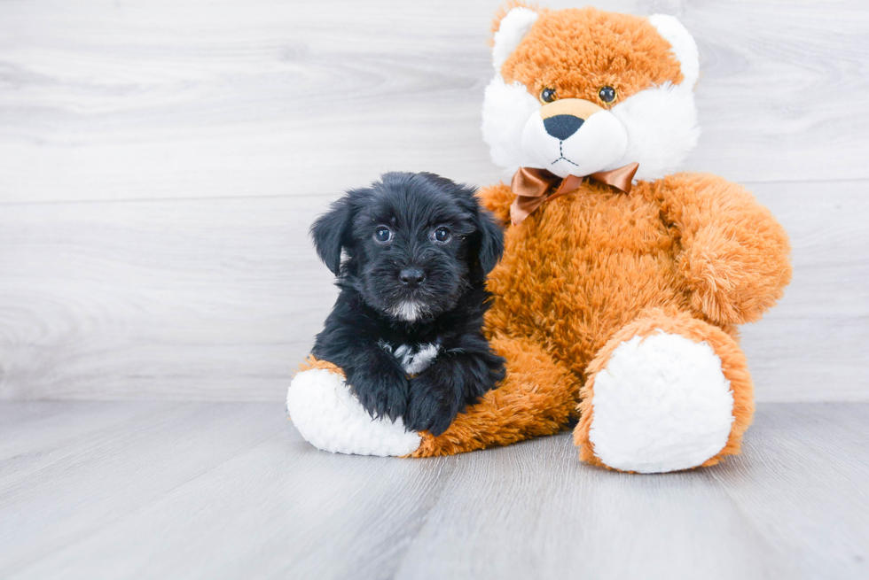
[(607, 109), (566, 98), (528, 117), (522, 148), (537, 166), (559, 177), (582, 177), (618, 167), (628, 149), (628, 133)]

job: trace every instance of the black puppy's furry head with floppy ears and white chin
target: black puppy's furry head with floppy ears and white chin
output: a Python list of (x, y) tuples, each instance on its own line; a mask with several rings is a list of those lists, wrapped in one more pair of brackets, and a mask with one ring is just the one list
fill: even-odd
[(500, 228), (474, 189), (433, 174), (384, 174), (349, 191), (312, 235), (320, 258), (368, 305), (406, 322), (451, 310), (503, 251)]

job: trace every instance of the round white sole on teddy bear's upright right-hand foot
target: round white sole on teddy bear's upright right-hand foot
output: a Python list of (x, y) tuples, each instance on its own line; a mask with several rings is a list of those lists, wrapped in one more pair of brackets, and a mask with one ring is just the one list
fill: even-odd
[(685, 336), (634, 336), (594, 380), (589, 439), (622, 471), (693, 468), (727, 443), (733, 393), (709, 344)]

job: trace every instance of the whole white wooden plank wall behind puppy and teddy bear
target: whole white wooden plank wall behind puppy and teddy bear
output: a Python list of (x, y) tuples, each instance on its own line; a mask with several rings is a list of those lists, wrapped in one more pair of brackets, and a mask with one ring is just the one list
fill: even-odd
[[(498, 5), (0, 2), (0, 398), (282, 398), (333, 302), (307, 238), (329, 201), (504, 177), (479, 131)], [(757, 397), (869, 399), (869, 4), (597, 5), (683, 20), (685, 167), (790, 232), (794, 282), (743, 333)]]

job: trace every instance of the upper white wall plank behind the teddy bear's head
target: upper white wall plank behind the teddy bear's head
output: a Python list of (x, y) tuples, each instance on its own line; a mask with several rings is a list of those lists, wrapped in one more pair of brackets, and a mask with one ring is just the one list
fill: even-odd
[[(4, 2), (0, 201), (334, 195), (398, 169), (494, 181), (479, 126), (500, 4)], [(697, 38), (688, 168), (869, 178), (865, 3), (597, 5), (674, 13)]]

